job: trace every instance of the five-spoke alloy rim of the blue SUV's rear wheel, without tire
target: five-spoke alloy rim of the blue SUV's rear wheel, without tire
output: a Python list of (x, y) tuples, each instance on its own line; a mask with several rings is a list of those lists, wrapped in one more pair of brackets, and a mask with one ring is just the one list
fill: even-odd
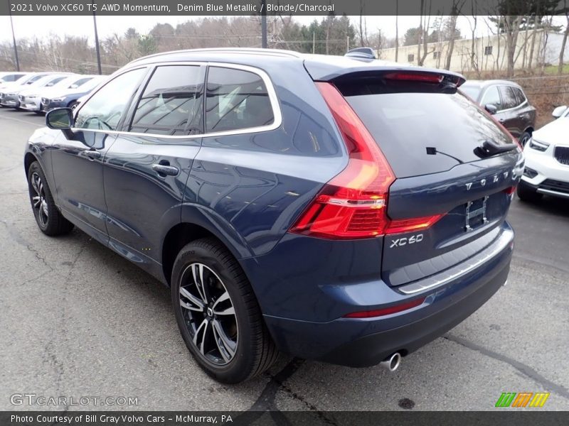
[(225, 366), (235, 357), (235, 307), (219, 276), (203, 263), (191, 263), (180, 278), (180, 306), (193, 346), (206, 361)]

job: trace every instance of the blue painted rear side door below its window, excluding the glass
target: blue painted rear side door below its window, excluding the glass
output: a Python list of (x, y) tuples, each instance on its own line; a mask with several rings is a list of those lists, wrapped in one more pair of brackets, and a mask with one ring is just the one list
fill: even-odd
[(200, 145), (201, 138), (183, 143), (126, 133), (117, 138), (104, 172), (113, 249), (136, 262), (161, 262), (161, 239), (180, 222), (186, 180)]

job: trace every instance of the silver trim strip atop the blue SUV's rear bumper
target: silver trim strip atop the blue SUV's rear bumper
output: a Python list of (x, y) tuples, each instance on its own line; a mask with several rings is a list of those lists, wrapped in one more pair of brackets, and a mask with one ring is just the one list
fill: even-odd
[(416, 281), (415, 283), (401, 285), (397, 290), (401, 293), (405, 293), (406, 295), (411, 295), (413, 293), (437, 287), (438, 285), (449, 283), (462, 275), (466, 275), (467, 273), (474, 271), (474, 269), (481, 266), (482, 263), (486, 263), (491, 258), (494, 258), (501, 253), (501, 251), (504, 251), (512, 241), (514, 241), (514, 231), (506, 229), (496, 239), (496, 241), (486, 247), (486, 249), (472, 256), (472, 258), (469, 258), (459, 265), (449, 268), (447, 271), (443, 271), (442, 273), (437, 273), (436, 275)]

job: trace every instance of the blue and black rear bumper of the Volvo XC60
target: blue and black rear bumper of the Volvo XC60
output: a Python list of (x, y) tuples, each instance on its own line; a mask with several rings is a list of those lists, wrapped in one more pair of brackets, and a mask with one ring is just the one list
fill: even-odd
[[(507, 224), (504, 226), (511, 232)], [(281, 351), (304, 359), (363, 367), (378, 364), (393, 352), (405, 356), (472, 315), (504, 285), (509, 273), (513, 232), (511, 236), (511, 244), (479, 268), (444, 285), (408, 296), (408, 300), (426, 297), (422, 305), (413, 309), (383, 317), (339, 318), (330, 322), (265, 316), (267, 327)], [(398, 292), (397, 288), (390, 291)]]

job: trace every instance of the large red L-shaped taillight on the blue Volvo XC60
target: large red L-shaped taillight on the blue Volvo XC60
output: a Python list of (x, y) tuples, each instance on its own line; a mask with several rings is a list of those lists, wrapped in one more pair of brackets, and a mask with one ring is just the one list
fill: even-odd
[(317, 82), (349, 152), (348, 165), (330, 180), (291, 232), (328, 239), (370, 238), (425, 229), (442, 215), (391, 221), (387, 195), (393, 170), (356, 112), (331, 83)]

